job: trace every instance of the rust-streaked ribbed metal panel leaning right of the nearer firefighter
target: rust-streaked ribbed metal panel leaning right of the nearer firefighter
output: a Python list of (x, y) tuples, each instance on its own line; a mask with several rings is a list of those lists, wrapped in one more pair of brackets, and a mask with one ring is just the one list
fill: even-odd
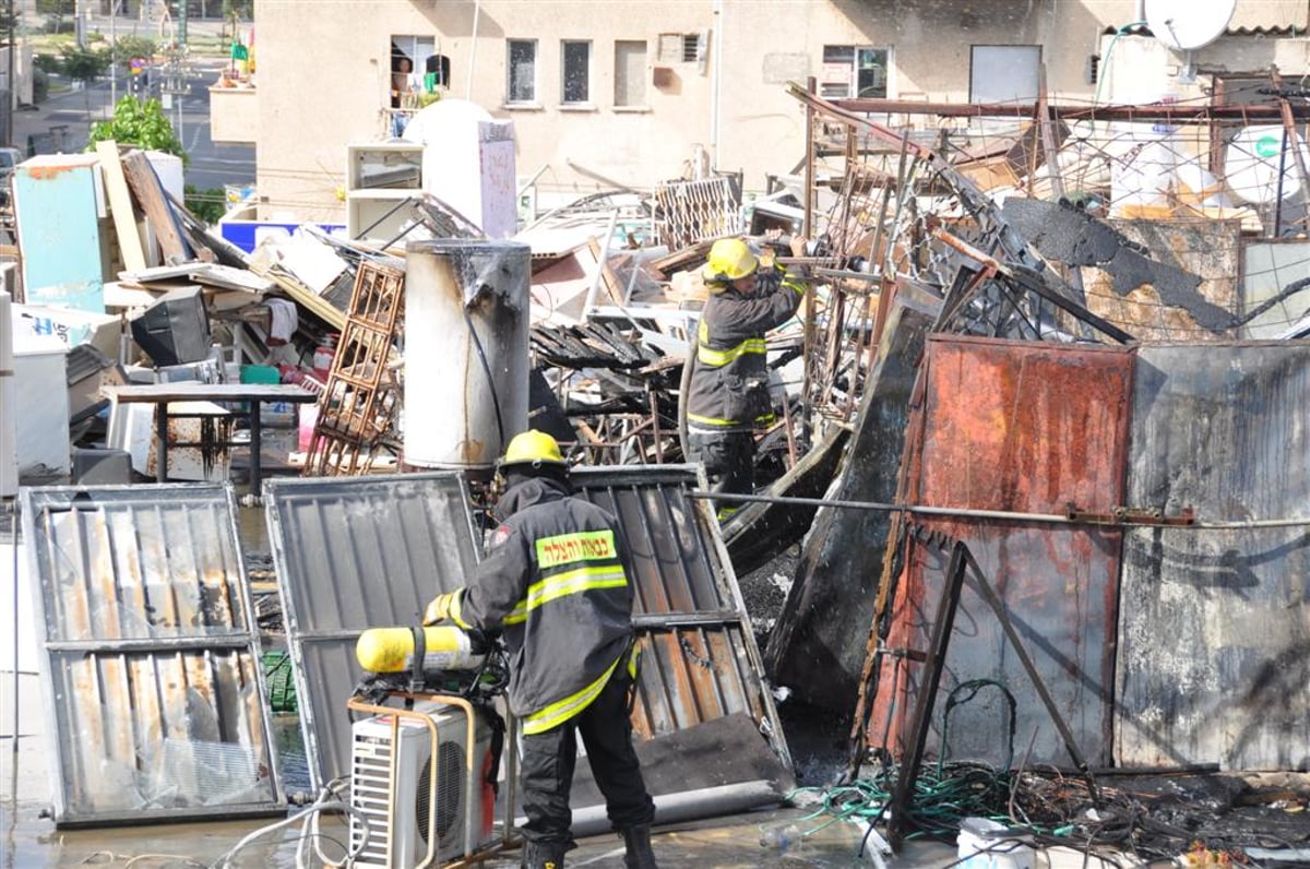
[(745, 714), (790, 771), (718, 520), (709, 501), (689, 494), (707, 489), (700, 467), (584, 468), (574, 471), (572, 482), (579, 495), (617, 516), (631, 550), (633, 623), (642, 650), (633, 713), (638, 738)]

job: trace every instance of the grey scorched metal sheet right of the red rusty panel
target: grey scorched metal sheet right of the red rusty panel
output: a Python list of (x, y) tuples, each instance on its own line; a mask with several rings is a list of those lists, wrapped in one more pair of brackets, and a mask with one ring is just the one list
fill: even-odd
[[(1197, 522), (1134, 528), (1121, 581), (1123, 764), (1305, 769), (1310, 343), (1138, 354), (1128, 497)], [(1277, 527), (1279, 520), (1292, 520)]]

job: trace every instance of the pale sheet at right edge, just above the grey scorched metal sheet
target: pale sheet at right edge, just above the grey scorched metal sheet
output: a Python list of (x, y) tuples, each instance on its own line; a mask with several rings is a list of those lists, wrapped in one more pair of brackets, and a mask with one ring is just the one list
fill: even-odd
[(1267, 339), (1282, 336), (1310, 312), (1310, 290), (1300, 290), (1273, 301), (1282, 290), (1310, 277), (1310, 241), (1305, 239), (1262, 239), (1242, 245), (1242, 309), (1251, 315), (1265, 304), (1242, 329), (1242, 338)]

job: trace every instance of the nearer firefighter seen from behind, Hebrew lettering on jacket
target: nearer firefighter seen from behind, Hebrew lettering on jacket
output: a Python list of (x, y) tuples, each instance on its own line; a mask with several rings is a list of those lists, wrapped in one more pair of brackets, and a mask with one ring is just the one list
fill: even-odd
[(499, 473), (500, 527), (487, 557), (464, 589), (427, 606), (423, 624), (449, 619), (504, 632), (510, 706), (523, 721), (523, 865), (561, 869), (575, 847), (569, 790), (582, 734), (609, 821), (624, 835), (626, 865), (654, 869), (655, 803), (629, 721), (637, 649), (626, 541), (613, 516), (572, 497), (550, 435), (516, 435)]

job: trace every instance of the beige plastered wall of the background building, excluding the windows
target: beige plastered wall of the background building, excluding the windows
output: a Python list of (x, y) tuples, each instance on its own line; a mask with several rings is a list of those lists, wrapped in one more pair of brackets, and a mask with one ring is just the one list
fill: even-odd
[[(1242, 5), (1246, 26), (1296, 24), (1284, 21), (1286, 3)], [(804, 156), (804, 115), (786, 83), (817, 76), (825, 45), (888, 48), (891, 97), (960, 102), (972, 46), (1040, 45), (1051, 98), (1090, 101), (1090, 56), (1137, 9), (1132, 0), (259, 4), (261, 218), (342, 220), (346, 143), (386, 136), (392, 35), (432, 37), (451, 59), (449, 96), (514, 121), (517, 173), (541, 169), (538, 194), (549, 202), (648, 189), (683, 177), (702, 152), (714, 168), (741, 172), (747, 190), (762, 190), (766, 174)], [(698, 33), (707, 34), (703, 62), (659, 60), (660, 34)], [(506, 106), (506, 41), (520, 38), (538, 41), (538, 104)], [(592, 42), (588, 106), (559, 105), (561, 39)], [(646, 106), (613, 105), (618, 39), (647, 43)], [(1288, 76), (1310, 68), (1301, 39), (1226, 37), (1197, 56), (1226, 67), (1277, 62)]]

